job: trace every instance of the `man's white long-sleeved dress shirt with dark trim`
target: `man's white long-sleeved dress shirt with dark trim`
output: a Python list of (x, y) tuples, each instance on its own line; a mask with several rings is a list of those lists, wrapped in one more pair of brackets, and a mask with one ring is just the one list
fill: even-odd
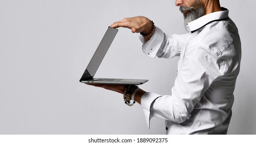
[(142, 50), (151, 57), (180, 56), (171, 95), (145, 93), (141, 106), (150, 119), (166, 120), (166, 134), (226, 134), (239, 73), (241, 44), (228, 9), (188, 23), (187, 34), (167, 36), (156, 27)]

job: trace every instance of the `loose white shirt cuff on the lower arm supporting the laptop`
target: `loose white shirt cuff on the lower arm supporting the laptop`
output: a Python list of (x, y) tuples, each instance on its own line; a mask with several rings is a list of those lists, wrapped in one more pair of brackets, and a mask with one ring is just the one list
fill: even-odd
[(142, 95), (141, 97), (141, 106), (143, 108), (143, 112), (145, 114), (145, 118), (146, 118), (146, 123), (147, 126), (150, 128), (150, 120), (152, 119), (152, 115), (151, 115), (151, 107), (154, 103), (154, 101), (158, 98), (161, 97), (160, 95), (156, 94), (156, 93), (150, 93), (147, 92), (144, 95)]

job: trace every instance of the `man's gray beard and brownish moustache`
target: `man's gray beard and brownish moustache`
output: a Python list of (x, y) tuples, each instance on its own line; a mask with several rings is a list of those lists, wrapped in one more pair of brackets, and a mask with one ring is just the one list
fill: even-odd
[(205, 14), (204, 4), (201, 0), (195, 1), (191, 7), (180, 6), (180, 11), (183, 13), (184, 16), (184, 27), (187, 30), (187, 24), (192, 22)]

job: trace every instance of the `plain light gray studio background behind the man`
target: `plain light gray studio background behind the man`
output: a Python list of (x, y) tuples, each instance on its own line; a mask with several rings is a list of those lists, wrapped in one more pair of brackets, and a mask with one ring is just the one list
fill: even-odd
[[(221, 1), (242, 42), (228, 134), (256, 134), (255, 4)], [(147, 129), (140, 105), (78, 82), (107, 26), (139, 15), (168, 35), (185, 33), (174, 0), (0, 0), (0, 134), (165, 134), (158, 118)], [(170, 94), (179, 57), (144, 55), (138, 35), (119, 28), (96, 77), (149, 79), (142, 89)]]

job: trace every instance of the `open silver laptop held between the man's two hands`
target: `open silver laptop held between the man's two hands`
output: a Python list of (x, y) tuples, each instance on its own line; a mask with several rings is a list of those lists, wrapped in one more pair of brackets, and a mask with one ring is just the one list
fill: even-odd
[(95, 84), (127, 84), (139, 85), (149, 80), (144, 79), (113, 79), (113, 78), (93, 78), (98, 70), (107, 50), (109, 50), (112, 41), (114, 40), (118, 30), (109, 27), (103, 36), (96, 52), (93, 54), (80, 82), (82, 83), (95, 83)]

